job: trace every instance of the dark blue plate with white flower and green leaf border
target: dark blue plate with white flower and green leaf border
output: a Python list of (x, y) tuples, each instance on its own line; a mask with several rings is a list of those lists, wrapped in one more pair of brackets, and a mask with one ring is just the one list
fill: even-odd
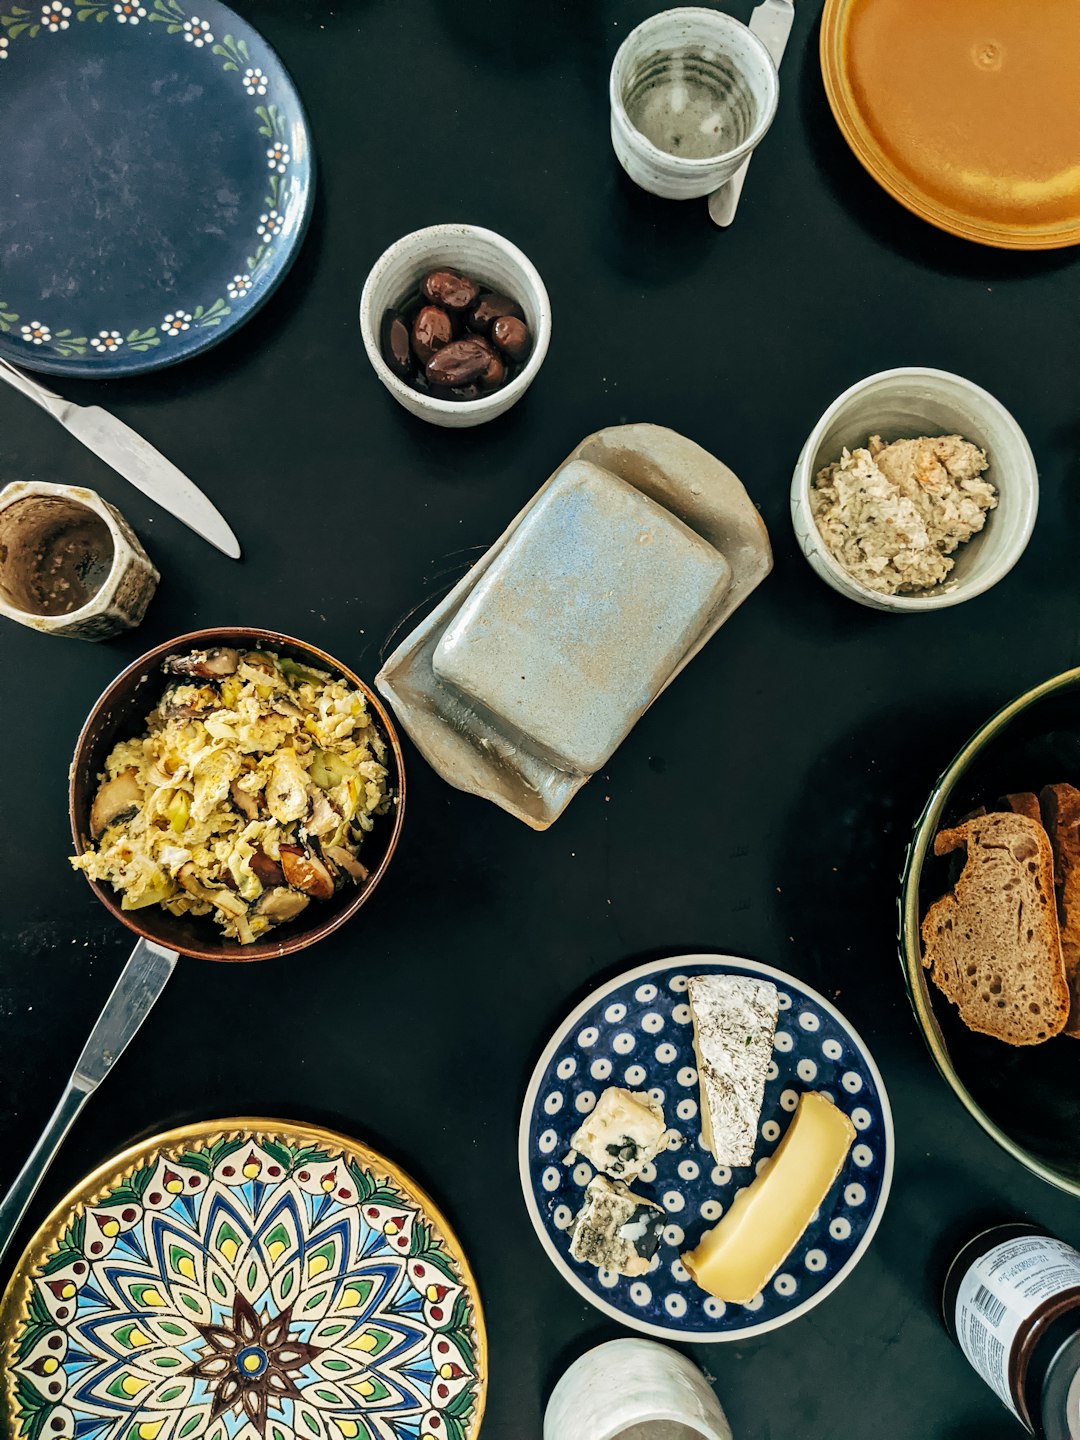
[(0, 0), (0, 356), (157, 370), (288, 271), (311, 137), (266, 42), (217, 0)]

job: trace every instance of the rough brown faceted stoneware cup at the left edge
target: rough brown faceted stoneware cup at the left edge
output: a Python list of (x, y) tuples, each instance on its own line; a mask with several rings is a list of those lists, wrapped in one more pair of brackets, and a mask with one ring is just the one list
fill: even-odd
[(127, 520), (81, 485), (0, 490), (0, 615), (78, 639), (108, 639), (147, 612), (160, 576)]

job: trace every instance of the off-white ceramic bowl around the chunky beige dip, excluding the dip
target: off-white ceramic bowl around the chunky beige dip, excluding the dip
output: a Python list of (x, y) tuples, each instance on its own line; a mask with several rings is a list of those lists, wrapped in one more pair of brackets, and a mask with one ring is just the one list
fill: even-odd
[[(868, 436), (886, 444), (922, 435), (962, 435), (986, 452), (985, 480), (998, 491), (982, 530), (953, 550), (948, 577), (919, 595), (880, 595), (852, 579), (825, 546), (811, 513), (811, 485), (825, 465)], [(1038, 471), (1027, 436), (1005, 406), (948, 370), (881, 370), (825, 410), (802, 446), (791, 484), (791, 514), (802, 553), (827, 585), (876, 611), (919, 612), (960, 605), (996, 585), (1024, 553), (1038, 513)]]

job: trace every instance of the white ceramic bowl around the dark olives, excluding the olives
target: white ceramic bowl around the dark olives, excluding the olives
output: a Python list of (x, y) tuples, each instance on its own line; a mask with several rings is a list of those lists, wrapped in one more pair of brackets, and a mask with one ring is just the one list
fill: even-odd
[[(442, 266), (516, 300), (533, 337), (528, 359), (514, 379), (475, 400), (441, 400), (413, 390), (383, 360), (379, 344), (386, 311), (400, 308), (428, 271)], [(360, 334), (374, 373), (399, 405), (431, 425), (464, 429), (494, 420), (533, 383), (552, 338), (552, 305), (540, 272), (517, 245), (478, 225), (429, 225), (395, 240), (372, 266), (360, 295)]]

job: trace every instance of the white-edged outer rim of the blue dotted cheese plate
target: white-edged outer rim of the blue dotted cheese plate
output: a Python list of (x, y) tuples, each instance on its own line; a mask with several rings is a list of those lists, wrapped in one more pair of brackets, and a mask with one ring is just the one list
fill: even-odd
[[(559, 1047), (564, 1043), (567, 1032), (573, 1031), (577, 1021), (586, 1015), (605, 995), (612, 991), (622, 989), (624, 985), (629, 985), (636, 979), (654, 978), (662, 971), (677, 971), (684, 969), (694, 962), (701, 962), (707, 965), (737, 965), (740, 969), (753, 971), (757, 975), (763, 975), (766, 979), (778, 985), (793, 985), (796, 989), (808, 995), (815, 1005), (821, 1005), (827, 1015), (831, 1015), (850, 1035), (858, 1048), (860, 1058), (870, 1071), (874, 1084), (877, 1086), (877, 1094), (881, 1106), (881, 1128), (886, 1136), (886, 1158), (881, 1166), (881, 1189), (877, 1197), (877, 1204), (874, 1212), (867, 1221), (867, 1228), (863, 1233), (855, 1248), (847, 1257), (844, 1264), (837, 1270), (831, 1280), (828, 1280), (819, 1290), (816, 1290), (806, 1300), (802, 1300), (793, 1309), (786, 1310), (783, 1315), (776, 1315), (770, 1320), (762, 1320), (755, 1325), (747, 1325), (740, 1331), (726, 1331), (724, 1333), (710, 1335), (701, 1331), (681, 1331), (677, 1325), (654, 1325), (651, 1320), (639, 1320), (636, 1316), (621, 1310), (618, 1306), (611, 1305), (603, 1300), (599, 1295), (595, 1295), (580, 1276), (567, 1263), (566, 1256), (556, 1248), (552, 1237), (547, 1233), (547, 1227), (540, 1218), (540, 1211), (536, 1202), (536, 1194), (533, 1188), (533, 1178), (530, 1174), (530, 1159), (528, 1159), (528, 1132), (533, 1123), (533, 1112), (536, 1110), (536, 1102), (540, 1094), (540, 1083), (547, 1073), (547, 1067), (552, 1063)], [(821, 991), (816, 991), (806, 981), (801, 979), (798, 975), (791, 975), (786, 971), (778, 969), (775, 965), (765, 965), (760, 960), (750, 960), (742, 955), (707, 955), (707, 953), (690, 953), (690, 955), (667, 955), (658, 960), (647, 960), (644, 965), (635, 965), (629, 971), (622, 971), (619, 975), (613, 975), (611, 979), (603, 981), (595, 989), (573, 1007), (573, 1009), (563, 1015), (562, 1020), (556, 1022), (552, 1032), (552, 1038), (544, 1045), (540, 1053), (540, 1058), (533, 1067), (533, 1073), (528, 1077), (528, 1086), (526, 1089), (526, 1097), (521, 1104), (521, 1119), (517, 1128), (517, 1172), (518, 1181), (521, 1184), (521, 1194), (524, 1195), (526, 1210), (528, 1211), (528, 1218), (533, 1223), (533, 1230), (536, 1231), (540, 1244), (543, 1246), (549, 1260), (554, 1264), (556, 1272), (560, 1279), (570, 1284), (577, 1295), (589, 1302), (600, 1313), (606, 1315), (609, 1319), (618, 1320), (619, 1325), (625, 1325), (626, 1329), (636, 1331), (641, 1335), (648, 1335), (652, 1339), (667, 1341), (668, 1344), (680, 1345), (723, 1345), (733, 1341), (747, 1341), (756, 1339), (759, 1335), (765, 1335), (769, 1331), (780, 1329), (780, 1326), (791, 1323), (791, 1320), (806, 1315), (809, 1310), (815, 1309), (825, 1300), (838, 1286), (848, 1279), (851, 1272), (855, 1269), (858, 1261), (870, 1248), (870, 1244), (877, 1234), (878, 1225), (888, 1205), (888, 1195), (893, 1188), (893, 1169), (896, 1165), (896, 1126), (893, 1123), (893, 1107), (888, 1102), (888, 1092), (886, 1090), (884, 1079), (877, 1067), (877, 1061), (870, 1051), (865, 1040), (855, 1030), (851, 1021), (844, 1015), (837, 1007), (825, 999)], [(831, 1187), (829, 1187), (831, 1188)]]

